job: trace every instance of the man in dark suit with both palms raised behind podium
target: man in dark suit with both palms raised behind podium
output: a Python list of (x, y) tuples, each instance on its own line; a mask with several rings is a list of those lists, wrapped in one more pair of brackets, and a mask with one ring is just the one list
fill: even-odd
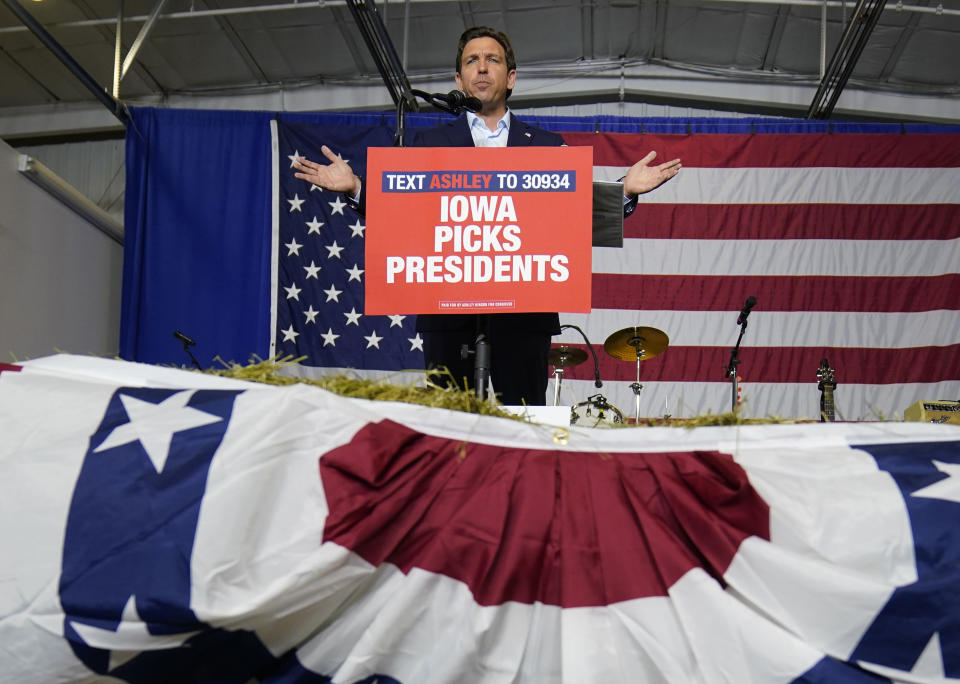
[[(467, 29), (457, 44), (457, 88), (481, 103), (476, 114), (424, 131), (414, 141), (421, 147), (520, 147), (560, 146), (556, 133), (530, 126), (507, 108), (513, 91), (517, 63), (510, 39), (499, 31), (476, 26)], [(320, 187), (346, 193), (363, 209), (363, 183), (350, 166), (324, 146), (328, 165), (301, 160), (298, 178)], [(624, 176), (624, 210), (629, 214), (637, 195), (653, 190), (680, 170), (680, 160), (649, 166), (651, 152)], [(472, 359), (461, 358), (463, 345), (473, 346), (484, 330), (491, 348), (491, 381), (500, 400), (508, 405), (542, 405), (546, 397), (550, 338), (560, 333), (556, 313), (429, 314), (417, 317), (423, 337), (427, 368), (446, 367), (458, 382), (473, 378)]]

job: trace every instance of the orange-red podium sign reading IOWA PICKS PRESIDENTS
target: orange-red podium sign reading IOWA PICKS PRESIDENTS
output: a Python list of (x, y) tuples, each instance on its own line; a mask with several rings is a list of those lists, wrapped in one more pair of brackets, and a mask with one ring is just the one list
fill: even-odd
[(367, 152), (365, 313), (590, 310), (590, 147)]

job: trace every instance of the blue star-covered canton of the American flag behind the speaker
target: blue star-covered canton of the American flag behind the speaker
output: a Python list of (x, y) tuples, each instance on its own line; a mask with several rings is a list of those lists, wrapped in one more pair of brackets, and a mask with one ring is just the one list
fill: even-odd
[[(414, 316), (363, 313), (365, 219), (340, 193), (294, 176), (294, 161), (323, 161), (328, 145), (359, 169), (366, 148), (336, 129), (277, 122), (278, 184), (271, 353), (303, 357), (305, 366), (370, 370), (423, 367), (423, 340)], [(359, 140), (365, 142), (366, 137)]]

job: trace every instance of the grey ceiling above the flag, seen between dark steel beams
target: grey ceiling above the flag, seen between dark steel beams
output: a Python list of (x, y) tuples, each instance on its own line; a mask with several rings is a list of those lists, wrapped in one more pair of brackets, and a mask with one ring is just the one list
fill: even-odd
[[(111, 90), (118, 0), (16, 1)], [(449, 89), (456, 37), (486, 24), (512, 38), (518, 96), (537, 106), (619, 99), (787, 116), (804, 115), (822, 60), (829, 60), (855, 6), (837, 0), (377, 5), (415, 87)], [(155, 0), (123, 0), (124, 55), (155, 7)], [(888, 2), (847, 85), (856, 94), (845, 93), (835, 116), (960, 122), (958, 55), (960, 0)], [(101, 106), (4, 5), (0, 82), (0, 121)], [(167, 0), (118, 95), (130, 104), (183, 107), (389, 106), (343, 0)]]

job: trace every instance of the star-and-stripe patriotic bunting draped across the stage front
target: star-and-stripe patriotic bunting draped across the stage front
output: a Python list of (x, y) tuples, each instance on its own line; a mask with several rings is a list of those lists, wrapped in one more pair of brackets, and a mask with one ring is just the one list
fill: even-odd
[(960, 681), (960, 428), (0, 364), (0, 679)]

